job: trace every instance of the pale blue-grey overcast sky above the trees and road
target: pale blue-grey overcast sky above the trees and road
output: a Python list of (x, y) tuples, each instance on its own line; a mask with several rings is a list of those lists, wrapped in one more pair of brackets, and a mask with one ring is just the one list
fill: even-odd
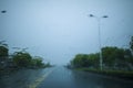
[(127, 47), (133, 35), (133, 0), (0, 0), (0, 41), (29, 47), (33, 56), (52, 64), (69, 63), (75, 54), (99, 52), (102, 46)]

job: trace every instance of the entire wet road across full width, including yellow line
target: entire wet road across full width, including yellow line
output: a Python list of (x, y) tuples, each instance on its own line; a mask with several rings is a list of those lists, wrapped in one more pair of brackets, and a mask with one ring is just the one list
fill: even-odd
[(0, 79), (0, 88), (133, 88), (124, 81), (65, 67), (24, 69)]

